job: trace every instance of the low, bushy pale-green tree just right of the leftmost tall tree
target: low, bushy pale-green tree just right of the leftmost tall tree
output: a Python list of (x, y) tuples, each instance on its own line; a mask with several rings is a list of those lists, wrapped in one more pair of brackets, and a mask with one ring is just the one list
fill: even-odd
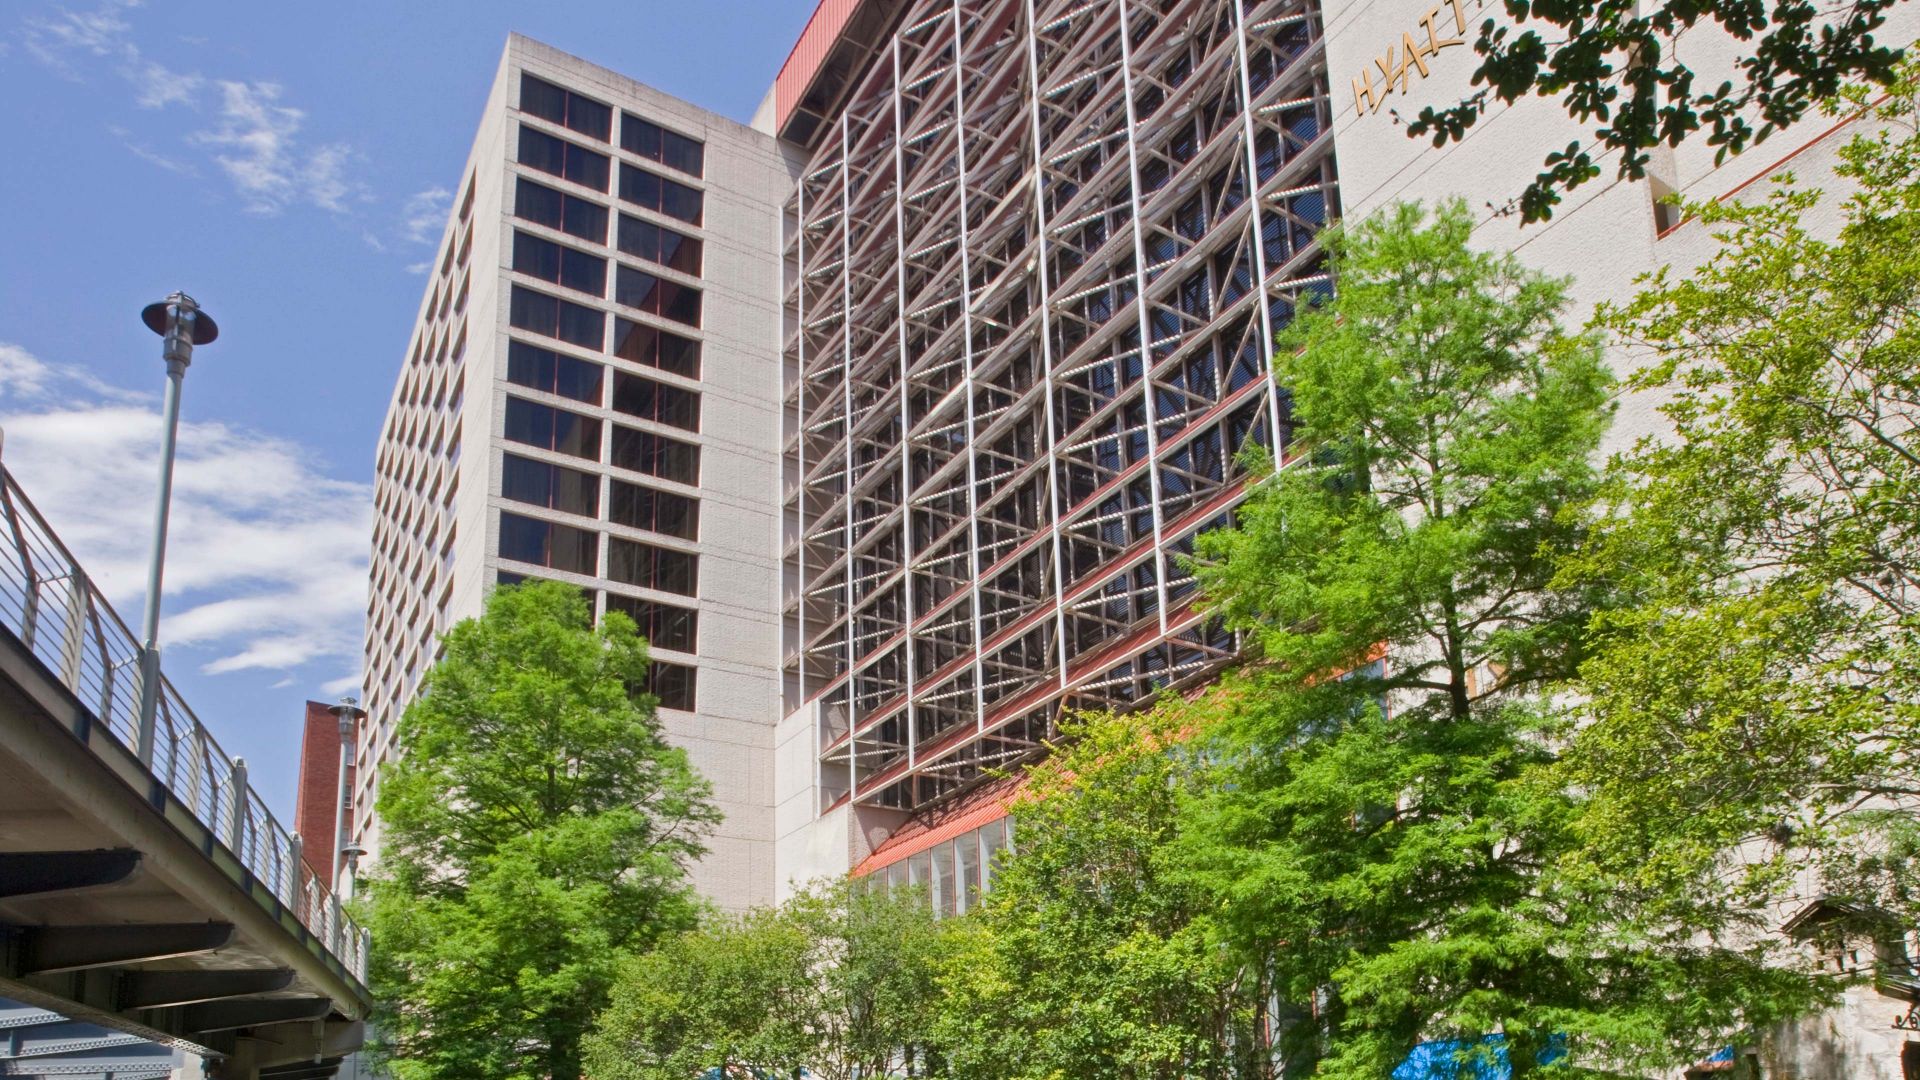
[(626, 963), (588, 1042), (589, 1070), (595, 1080), (708, 1068), (924, 1076), (945, 949), (924, 897), (862, 882), (716, 919)]

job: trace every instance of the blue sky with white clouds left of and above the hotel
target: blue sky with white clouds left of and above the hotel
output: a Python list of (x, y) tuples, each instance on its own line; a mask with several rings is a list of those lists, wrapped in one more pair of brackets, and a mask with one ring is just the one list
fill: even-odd
[(134, 623), (186, 377), (161, 646), (292, 809), (301, 701), (359, 686), (371, 471), (420, 265), (509, 31), (745, 121), (812, 0), (0, 4), (0, 457)]

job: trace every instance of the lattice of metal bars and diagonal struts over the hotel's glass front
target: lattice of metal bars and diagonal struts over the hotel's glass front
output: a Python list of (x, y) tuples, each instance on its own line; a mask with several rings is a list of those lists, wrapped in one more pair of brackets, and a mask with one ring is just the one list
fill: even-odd
[(1179, 557), (1284, 444), (1331, 127), (1317, 0), (908, 6), (787, 206), (822, 809), (927, 807), (1235, 655)]

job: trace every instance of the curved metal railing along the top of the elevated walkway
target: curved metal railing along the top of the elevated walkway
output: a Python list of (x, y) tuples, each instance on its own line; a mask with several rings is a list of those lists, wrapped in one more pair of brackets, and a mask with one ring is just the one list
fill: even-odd
[(148, 761), (167, 794), (365, 984), (367, 932), (340, 909), (228, 757), (161, 676), (152, 753), (138, 746), (140, 642), (0, 465), (0, 625), (92, 713), (100, 730)]

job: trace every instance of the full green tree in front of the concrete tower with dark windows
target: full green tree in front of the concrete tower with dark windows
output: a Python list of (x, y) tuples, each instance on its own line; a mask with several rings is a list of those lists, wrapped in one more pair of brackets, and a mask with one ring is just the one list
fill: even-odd
[(718, 821), (634, 688), (647, 646), (578, 590), (499, 588), (445, 636), (380, 776), (380, 1053), (401, 1080), (580, 1076), (618, 959), (693, 922)]

